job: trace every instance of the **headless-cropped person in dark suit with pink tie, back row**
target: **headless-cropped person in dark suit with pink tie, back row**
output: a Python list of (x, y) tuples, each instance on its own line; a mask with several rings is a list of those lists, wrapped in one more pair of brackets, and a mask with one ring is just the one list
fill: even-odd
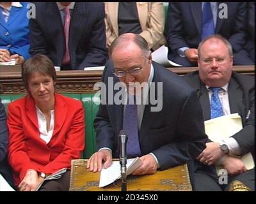
[[(103, 3), (34, 4), (36, 18), (31, 18), (29, 22), (31, 55), (47, 55), (54, 66), (61, 66), (64, 70), (105, 65), (107, 52)], [(71, 15), (67, 43), (65, 8)], [(67, 50), (69, 59), (65, 60)]]

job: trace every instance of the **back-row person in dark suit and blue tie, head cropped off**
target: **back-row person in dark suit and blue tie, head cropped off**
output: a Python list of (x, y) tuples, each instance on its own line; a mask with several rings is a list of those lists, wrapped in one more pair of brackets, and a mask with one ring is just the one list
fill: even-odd
[[(197, 47), (202, 39), (202, 2), (169, 3), (168, 10), (168, 59), (182, 66), (195, 66), (198, 59)], [(214, 33), (226, 38), (232, 45), (234, 65), (253, 64), (246, 43), (246, 3), (211, 2)], [(210, 12), (208, 11), (208, 13)], [(212, 33), (212, 34), (214, 34)]]

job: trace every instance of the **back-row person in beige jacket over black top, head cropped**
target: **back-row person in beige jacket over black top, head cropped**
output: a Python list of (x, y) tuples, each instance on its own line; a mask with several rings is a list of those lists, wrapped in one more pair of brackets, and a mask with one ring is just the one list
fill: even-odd
[(106, 2), (107, 47), (123, 33), (140, 34), (152, 50), (166, 44), (162, 2)]

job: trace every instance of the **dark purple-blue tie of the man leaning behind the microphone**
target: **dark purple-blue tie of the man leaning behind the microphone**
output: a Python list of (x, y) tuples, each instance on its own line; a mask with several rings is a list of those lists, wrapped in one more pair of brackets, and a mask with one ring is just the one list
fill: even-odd
[[(134, 97), (129, 95), (129, 97)], [(127, 133), (127, 157), (133, 158), (141, 156), (140, 142), (139, 142), (139, 129), (138, 129), (138, 114), (135, 99), (129, 99), (130, 104), (125, 106), (123, 129)], [(133, 103), (134, 101), (134, 103)]]

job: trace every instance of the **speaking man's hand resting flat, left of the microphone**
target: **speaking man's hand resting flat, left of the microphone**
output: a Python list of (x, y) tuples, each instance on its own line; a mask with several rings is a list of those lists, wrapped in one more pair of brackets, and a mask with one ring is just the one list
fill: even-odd
[(104, 168), (108, 168), (112, 163), (111, 152), (107, 149), (100, 150), (95, 152), (90, 159), (87, 161), (87, 169), (89, 171), (101, 171), (102, 161), (104, 161)]

